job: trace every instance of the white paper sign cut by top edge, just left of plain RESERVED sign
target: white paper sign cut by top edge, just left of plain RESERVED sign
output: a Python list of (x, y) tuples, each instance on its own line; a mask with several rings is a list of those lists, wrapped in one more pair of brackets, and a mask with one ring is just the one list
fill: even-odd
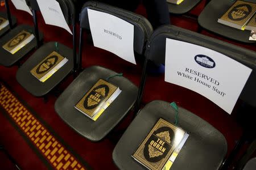
[(72, 34), (71, 29), (64, 18), (63, 12), (61, 11), (59, 2), (55, 0), (36, 0), (38, 1), (38, 6), (43, 15), (44, 22), (49, 25), (55, 25), (66, 29)]

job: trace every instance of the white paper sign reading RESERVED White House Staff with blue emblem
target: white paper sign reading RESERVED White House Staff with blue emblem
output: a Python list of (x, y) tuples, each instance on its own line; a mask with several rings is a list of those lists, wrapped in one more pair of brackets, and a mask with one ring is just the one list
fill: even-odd
[(251, 71), (214, 50), (166, 39), (166, 82), (207, 97), (229, 114)]

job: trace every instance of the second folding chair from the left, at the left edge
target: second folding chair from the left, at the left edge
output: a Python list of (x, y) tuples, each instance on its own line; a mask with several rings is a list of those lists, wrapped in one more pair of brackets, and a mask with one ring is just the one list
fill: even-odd
[[(30, 25), (18, 25), (10, 32), (8, 32), (5, 36), (0, 39), (0, 65), (10, 67), (13, 66), (16, 62), (18, 62), (22, 57), (26, 56), (28, 52), (32, 49), (39, 47), (40, 41), (43, 40), (43, 33), (38, 30), (38, 21), (36, 16), (36, 10), (32, 10), (33, 20), (34, 20), (34, 28)], [(11, 54), (7, 52), (7, 50), (3, 49), (3, 45), (12, 40), (18, 33), (22, 31), (27, 31), (35, 35), (35, 38), (28, 42), (23, 48), (19, 49), (16, 53)], [(3, 57), (4, 56), (4, 57)]]

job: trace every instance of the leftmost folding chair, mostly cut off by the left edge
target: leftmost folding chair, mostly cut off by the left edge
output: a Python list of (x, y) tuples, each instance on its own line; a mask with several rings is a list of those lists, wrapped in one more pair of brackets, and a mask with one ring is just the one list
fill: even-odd
[[(10, 29), (16, 25), (16, 18), (15, 16), (11, 15), (10, 13), (10, 7), (9, 7), (9, 1), (5, 0), (5, 7), (6, 7), (6, 12), (0, 12), (0, 17), (3, 19), (8, 20), (9, 25), (7, 25), (5, 28), (0, 29), (0, 37), (5, 35), (6, 32), (8, 32)], [(0, 23), (2, 23), (3, 20), (0, 19)]]

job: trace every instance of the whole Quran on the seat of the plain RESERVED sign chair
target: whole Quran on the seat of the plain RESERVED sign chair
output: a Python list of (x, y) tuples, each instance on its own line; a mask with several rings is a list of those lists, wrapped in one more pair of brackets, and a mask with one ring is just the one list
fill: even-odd
[(119, 87), (99, 79), (75, 105), (75, 108), (96, 121), (120, 93)]

